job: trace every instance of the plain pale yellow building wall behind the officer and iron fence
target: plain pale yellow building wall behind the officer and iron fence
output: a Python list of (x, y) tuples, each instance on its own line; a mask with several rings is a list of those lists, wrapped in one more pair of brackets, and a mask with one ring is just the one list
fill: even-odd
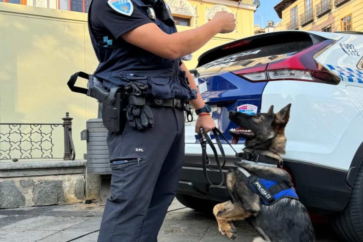
[[(214, 4), (189, 2), (198, 5), (197, 25), (203, 25), (208, 21), (205, 7), (210, 9)], [(194, 68), (206, 50), (253, 34), (253, 10), (229, 8), (236, 12), (237, 32), (217, 34), (186, 62), (188, 68)], [(68, 111), (74, 118), (76, 158), (82, 159), (86, 142), (80, 140), (80, 132), (87, 119), (97, 117), (97, 102), (72, 93), (66, 82), (77, 71), (93, 73), (98, 64), (87, 14), (0, 3), (0, 23), (0, 123), (61, 123)], [(178, 26), (179, 31), (191, 28)], [(86, 87), (86, 81), (82, 84)], [(62, 134), (53, 139), (59, 144), (54, 147), (55, 155), (62, 156)]]

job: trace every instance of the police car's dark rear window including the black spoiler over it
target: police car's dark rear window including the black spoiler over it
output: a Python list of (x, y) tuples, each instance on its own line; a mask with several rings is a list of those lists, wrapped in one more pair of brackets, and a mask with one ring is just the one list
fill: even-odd
[[(218, 46), (199, 57), (200, 70), (218, 67), (250, 66), (248, 62), (266, 63), (305, 49), (325, 40), (307, 32), (276, 32), (248, 37)], [(257, 60), (257, 61), (256, 61)]]

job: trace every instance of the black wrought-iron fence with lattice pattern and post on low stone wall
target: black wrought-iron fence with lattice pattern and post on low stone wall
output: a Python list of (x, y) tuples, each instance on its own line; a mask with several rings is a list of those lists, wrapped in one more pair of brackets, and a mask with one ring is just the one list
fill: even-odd
[[(72, 140), (72, 119), (69, 112), (66, 112), (66, 116), (62, 118), (63, 123), (0, 123), (0, 160), (74, 160), (76, 151)], [(55, 157), (53, 135), (54, 131), (61, 127), (64, 155)]]

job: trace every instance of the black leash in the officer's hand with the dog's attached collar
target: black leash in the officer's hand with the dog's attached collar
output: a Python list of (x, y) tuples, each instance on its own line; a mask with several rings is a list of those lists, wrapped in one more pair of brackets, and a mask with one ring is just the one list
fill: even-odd
[[(257, 155), (254, 153), (250, 153), (250, 152), (237, 152), (233, 146), (231, 145), (231, 143), (229, 143), (229, 141), (227, 140), (227, 138), (225, 138), (225, 136), (223, 135), (223, 133), (218, 129), (218, 128), (214, 128), (212, 130), (213, 135), (215, 136), (216, 139), (216, 143), (218, 145), (218, 148), (221, 152), (222, 155), (222, 159), (223, 159), (223, 165), (221, 165), (220, 160), (219, 160), (219, 156), (217, 153), (217, 149), (215, 147), (215, 145), (213, 144), (211, 138), (209, 138), (207, 132), (205, 132), (204, 128), (200, 128), (199, 132), (198, 132), (198, 138), (199, 138), (199, 142), (200, 145), (202, 147), (202, 164), (203, 164), (203, 173), (205, 178), (208, 180), (209, 184), (211, 184), (212, 186), (221, 186), (224, 183), (224, 174), (223, 174), (223, 167), (226, 163), (226, 156), (224, 153), (224, 149), (221, 143), (221, 140), (219, 138), (218, 135), (220, 135), (226, 142), (227, 144), (233, 149), (233, 151), (235, 152), (235, 155), (238, 159), (244, 160), (241, 162), (244, 163), (249, 163), (249, 164), (254, 164), (254, 165), (263, 165), (263, 166), (277, 166), (277, 167), (282, 167), (282, 163), (280, 163), (280, 161), (269, 157), (269, 156), (265, 156), (265, 155)], [(209, 144), (209, 146), (211, 147), (214, 157), (216, 159), (216, 163), (217, 163), (217, 168), (212, 168), (211, 167), (211, 161), (208, 158), (207, 155), (207, 143)], [(247, 162), (246, 162), (247, 161)], [(215, 185), (211, 182), (211, 180), (209, 180), (208, 177), (208, 173), (207, 173), (207, 168), (211, 171), (219, 171), (222, 177), (222, 181), (219, 185)]]

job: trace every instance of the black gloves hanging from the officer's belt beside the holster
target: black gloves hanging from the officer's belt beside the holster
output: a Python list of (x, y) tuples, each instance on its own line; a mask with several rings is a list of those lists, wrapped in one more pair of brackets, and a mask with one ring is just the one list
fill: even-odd
[(148, 86), (141, 82), (130, 82), (125, 86), (125, 93), (129, 99), (126, 117), (132, 128), (144, 130), (154, 126), (151, 108), (145, 104)]

